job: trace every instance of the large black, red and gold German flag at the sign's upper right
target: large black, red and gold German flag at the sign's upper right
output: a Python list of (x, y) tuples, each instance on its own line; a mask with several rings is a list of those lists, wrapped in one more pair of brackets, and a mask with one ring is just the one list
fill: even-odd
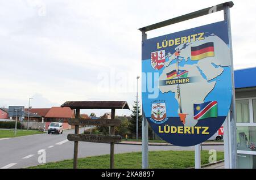
[(214, 44), (207, 42), (200, 46), (191, 47), (191, 60), (198, 61), (203, 58), (214, 57)]

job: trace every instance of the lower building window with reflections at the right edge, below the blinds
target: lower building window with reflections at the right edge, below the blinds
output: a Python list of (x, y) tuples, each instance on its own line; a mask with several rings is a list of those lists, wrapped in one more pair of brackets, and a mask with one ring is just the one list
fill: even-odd
[(237, 126), (237, 150), (256, 152), (256, 127)]

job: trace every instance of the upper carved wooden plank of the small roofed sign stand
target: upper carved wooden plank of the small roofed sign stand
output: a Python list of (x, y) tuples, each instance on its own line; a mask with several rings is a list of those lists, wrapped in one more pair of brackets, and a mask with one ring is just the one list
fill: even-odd
[(72, 126), (120, 126), (120, 119), (68, 119), (68, 124)]

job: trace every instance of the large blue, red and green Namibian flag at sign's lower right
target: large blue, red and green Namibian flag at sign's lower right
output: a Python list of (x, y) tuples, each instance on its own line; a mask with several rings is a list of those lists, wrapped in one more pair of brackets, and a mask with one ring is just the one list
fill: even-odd
[(218, 102), (210, 101), (203, 104), (194, 104), (194, 119), (201, 120), (206, 118), (218, 117)]

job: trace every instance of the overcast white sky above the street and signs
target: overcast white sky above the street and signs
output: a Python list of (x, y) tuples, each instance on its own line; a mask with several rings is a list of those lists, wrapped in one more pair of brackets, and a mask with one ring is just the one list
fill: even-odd
[[(224, 1), (0, 2), (1, 107), (27, 107), (34, 97), (32, 108), (89, 100), (126, 100), (131, 108), (141, 75), (138, 28)], [(234, 68), (255, 67), (256, 3), (233, 2)], [(221, 20), (217, 12), (148, 32), (148, 38)]]

